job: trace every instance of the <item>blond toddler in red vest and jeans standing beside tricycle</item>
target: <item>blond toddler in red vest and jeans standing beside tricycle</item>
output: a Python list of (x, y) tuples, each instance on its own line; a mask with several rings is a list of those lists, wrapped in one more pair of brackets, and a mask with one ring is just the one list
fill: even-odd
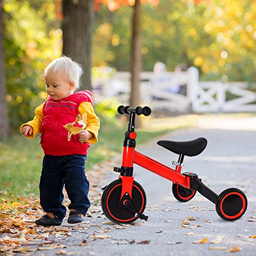
[[(37, 225), (61, 225), (66, 215), (63, 186), (71, 201), (68, 223), (83, 221), (90, 207), (89, 181), (85, 162), (90, 143), (97, 142), (99, 118), (93, 109), (90, 91), (75, 92), (79, 86), (82, 69), (78, 63), (63, 56), (53, 60), (45, 69), (48, 98), (35, 110), (32, 121), (23, 124), (20, 132), (27, 138), (41, 133), (44, 150), (40, 177), (40, 204), (46, 215), (35, 221)], [(74, 122), (76, 116), (87, 114), (87, 126), (80, 134), (72, 135), (63, 127)]]

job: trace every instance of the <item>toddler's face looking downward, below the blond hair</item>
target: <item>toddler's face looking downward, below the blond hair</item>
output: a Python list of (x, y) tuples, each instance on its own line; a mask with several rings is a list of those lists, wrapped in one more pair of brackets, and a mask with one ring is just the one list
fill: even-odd
[(57, 71), (45, 77), (46, 92), (54, 100), (60, 100), (73, 94), (75, 83), (69, 80), (69, 76), (63, 71)]

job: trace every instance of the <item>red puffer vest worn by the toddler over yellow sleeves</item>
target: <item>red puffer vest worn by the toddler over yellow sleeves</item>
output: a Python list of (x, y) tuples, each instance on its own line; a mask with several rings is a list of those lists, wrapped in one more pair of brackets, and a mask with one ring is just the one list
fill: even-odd
[(42, 110), (41, 146), (46, 155), (87, 155), (90, 143), (81, 143), (79, 135), (72, 135), (68, 141), (68, 131), (63, 125), (75, 121), (79, 114), (78, 108), (81, 102), (91, 102), (93, 97), (90, 91), (80, 91), (67, 98), (54, 100), (48, 97)]

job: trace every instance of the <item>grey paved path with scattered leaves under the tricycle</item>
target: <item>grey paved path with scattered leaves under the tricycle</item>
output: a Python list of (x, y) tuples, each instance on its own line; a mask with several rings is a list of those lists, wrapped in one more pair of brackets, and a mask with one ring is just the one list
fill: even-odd
[[(222, 220), (215, 205), (200, 194), (189, 202), (180, 203), (171, 193), (171, 182), (135, 166), (135, 180), (147, 195), (144, 211), (148, 215), (147, 222), (137, 220), (134, 225), (115, 225), (102, 215), (100, 205), (95, 202), (89, 212), (93, 218), (86, 218), (81, 225), (63, 222), (51, 233), (48, 241), (58, 243), (58, 248), (34, 251), (33, 255), (225, 255), (231, 253), (229, 250), (234, 246), (235, 250), (237, 247), (240, 250), (236, 255), (255, 255), (256, 238), (250, 237), (256, 236), (255, 131), (182, 130), (138, 146), (137, 150), (171, 166), (177, 155), (158, 146), (157, 140), (186, 141), (197, 137), (207, 138), (208, 145), (201, 155), (185, 157), (184, 172), (197, 173), (217, 194), (229, 187), (242, 189), (247, 195), (248, 208), (241, 219)], [(99, 185), (117, 177), (118, 174), (109, 169)], [(58, 230), (62, 230), (59, 235)], [(197, 243), (193, 243), (195, 241)], [(198, 244), (198, 241), (205, 243)]]

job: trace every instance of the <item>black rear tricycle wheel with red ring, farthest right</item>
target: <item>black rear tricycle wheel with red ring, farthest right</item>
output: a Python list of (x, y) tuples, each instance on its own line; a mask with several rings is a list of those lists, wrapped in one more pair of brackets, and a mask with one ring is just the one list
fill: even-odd
[(238, 188), (227, 188), (218, 196), (216, 211), (226, 221), (234, 221), (242, 217), (247, 208), (247, 198)]

